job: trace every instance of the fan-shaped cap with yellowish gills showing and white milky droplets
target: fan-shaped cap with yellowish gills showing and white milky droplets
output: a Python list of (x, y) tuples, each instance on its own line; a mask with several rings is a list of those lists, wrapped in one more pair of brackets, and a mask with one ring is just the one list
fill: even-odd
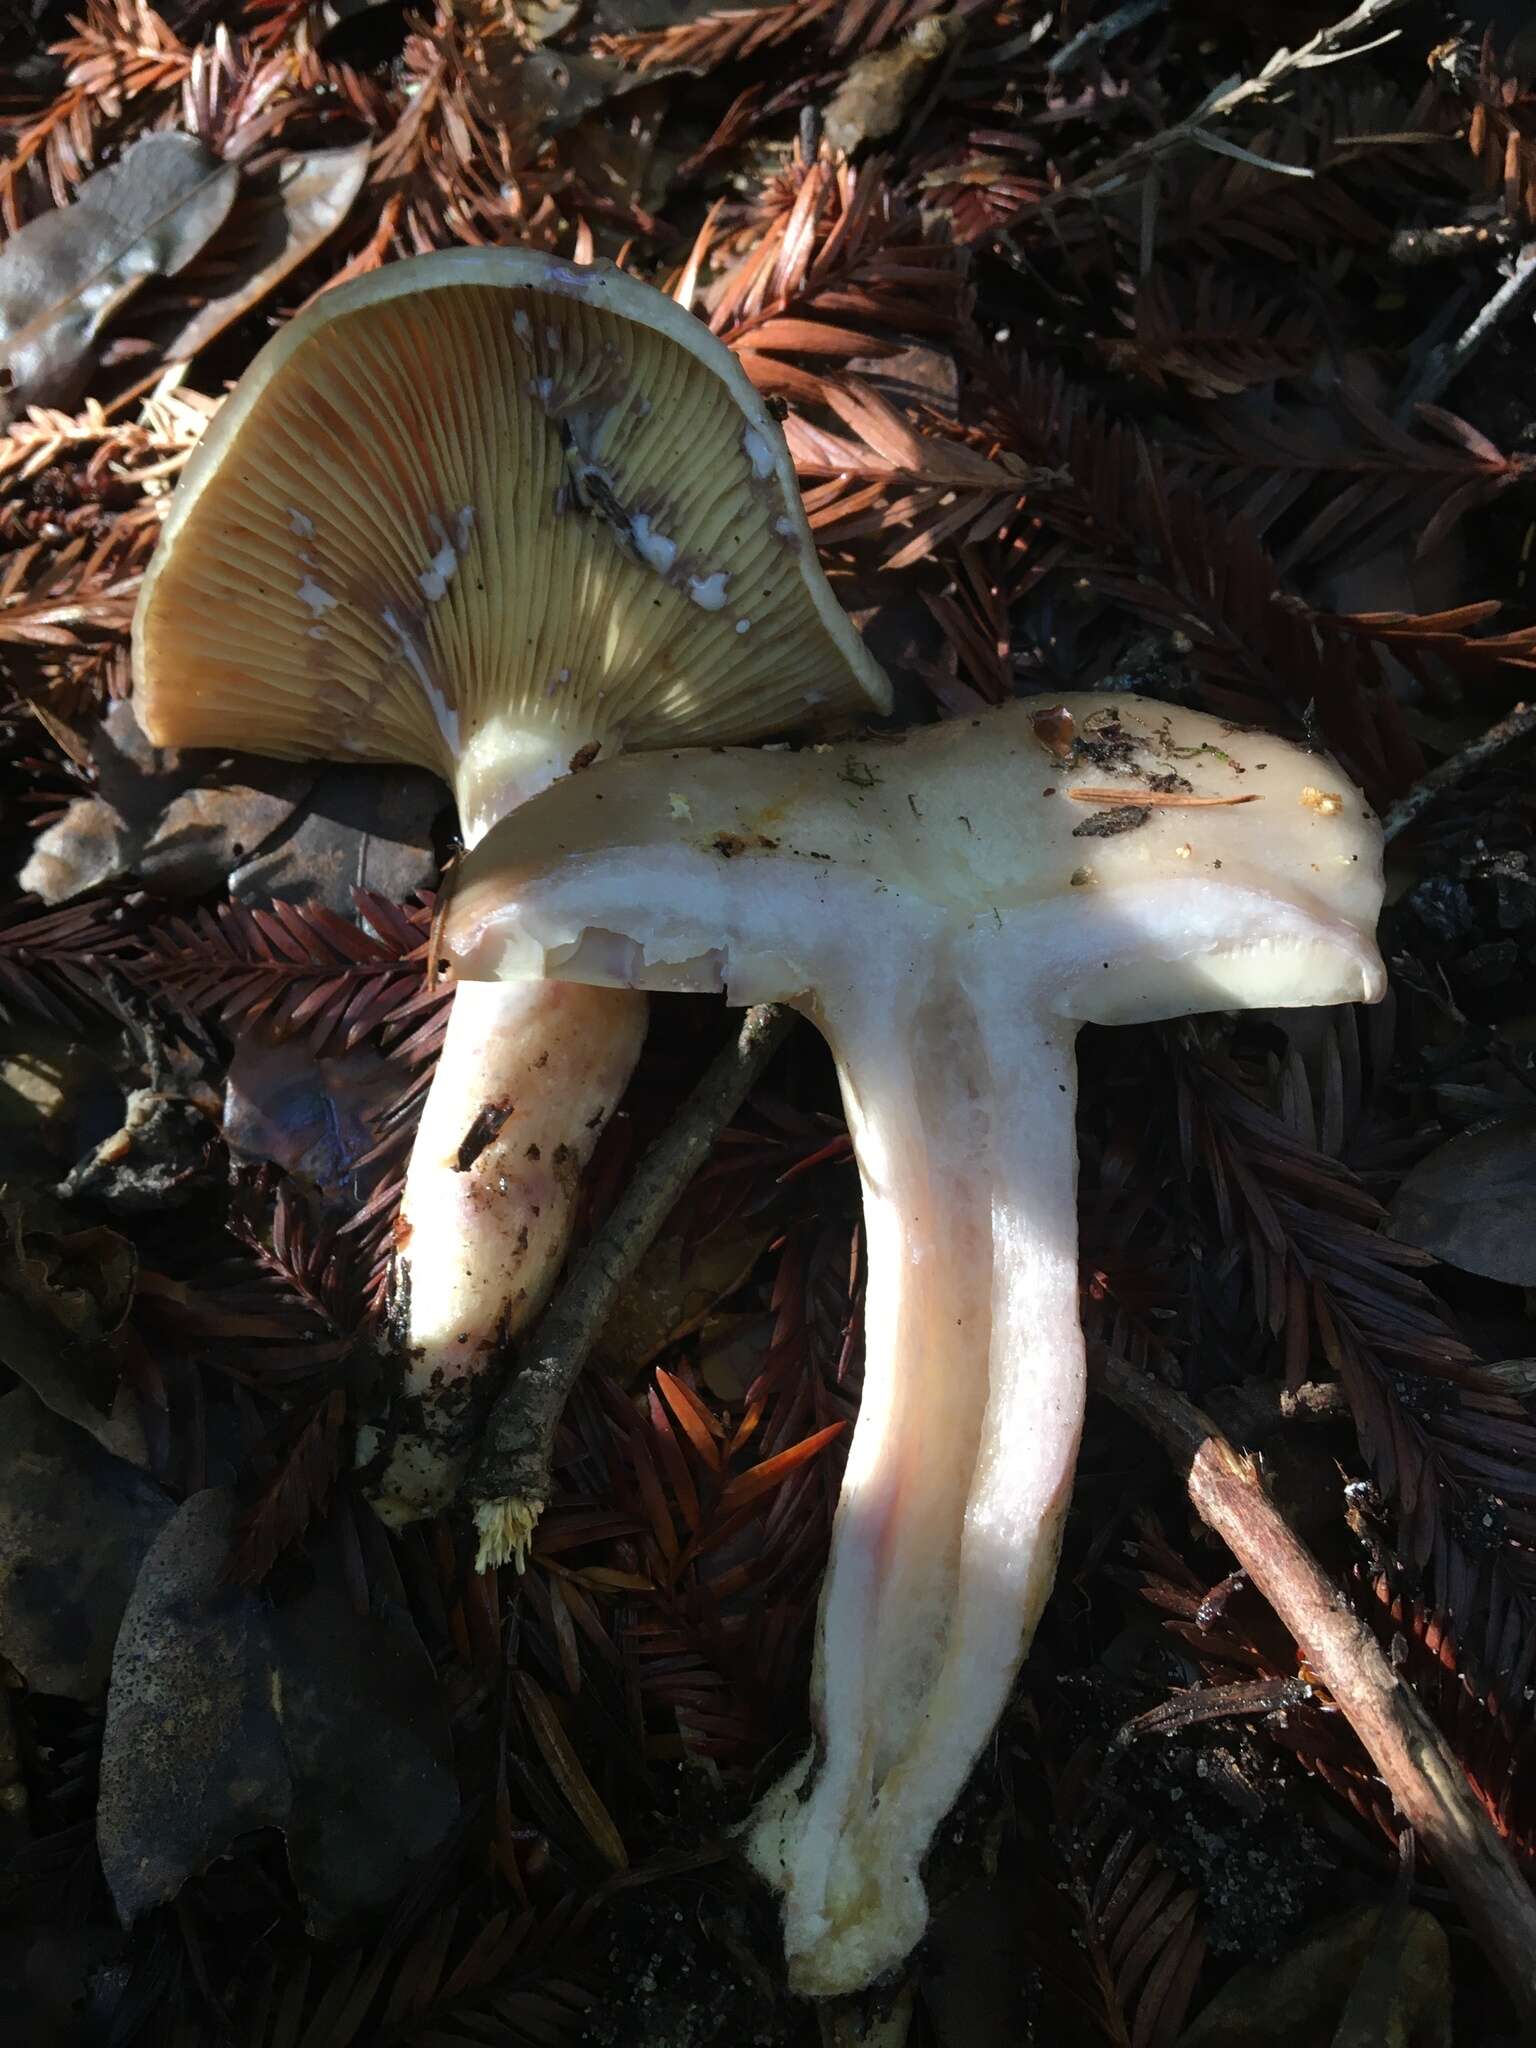
[(469, 838), (594, 735), (889, 700), (731, 352), (535, 250), (387, 266), (266, 344), (186, 467), (133, 655), (154, 741), (418, 762)]

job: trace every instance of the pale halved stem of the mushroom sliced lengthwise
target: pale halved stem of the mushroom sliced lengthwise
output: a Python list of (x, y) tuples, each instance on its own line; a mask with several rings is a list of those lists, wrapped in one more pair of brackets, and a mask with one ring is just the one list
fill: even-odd
[[(1083, 1415), (1075, 1024), (981, 952), (827, 1004), (864, 1184), (866, 1360), (813, 1679), (815, 1747), (750, 1858), (799, 1991), (897, 1964), (918, 1866), (993, 1729), (1061, 1544)], [(1028, 1077), (1024, 1090), (1016, 1079)]]

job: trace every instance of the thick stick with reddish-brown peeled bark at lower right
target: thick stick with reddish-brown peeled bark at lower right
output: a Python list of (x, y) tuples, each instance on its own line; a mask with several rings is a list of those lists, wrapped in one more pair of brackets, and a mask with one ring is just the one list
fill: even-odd
[(1516, 2011), (1526, 2025), (1536, 2025), (1536, 1896), (1419, 1696), (1399, 1679), (1366, 1624), (1280, 1516), (1253, 1460), (1233, 1450), (1208, 1415), (1108, 1352), (1096, 1354), (1094, 1376), (1184, 1473), (1200, 1520), (1221, 1536), (1296, 1638), (1296, 1649), (1366, 1745), (1397, 1810), (1440, 1866)]

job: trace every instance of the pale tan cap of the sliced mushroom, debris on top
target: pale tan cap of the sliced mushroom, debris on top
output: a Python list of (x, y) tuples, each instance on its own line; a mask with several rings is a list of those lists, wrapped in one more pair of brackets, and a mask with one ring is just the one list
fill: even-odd
[(467, 977), (764, 1001), (879, 973), (893, 928), (918, 946), (1047, 903), (1040, 981), (1079, 1022), (1382, 989), (1360, 793), (1327, 756), (1137, 696), (614, 762), (487, 836), (444, 936)]

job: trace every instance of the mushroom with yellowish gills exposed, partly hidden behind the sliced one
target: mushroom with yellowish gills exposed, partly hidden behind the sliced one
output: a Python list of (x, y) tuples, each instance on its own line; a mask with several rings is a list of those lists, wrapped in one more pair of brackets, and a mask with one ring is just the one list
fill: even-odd
[[(133, 674), (158, 745), (436, 770), (467, 846), (616, 748), (889, 702), (729, 350), (612, 264), (512, 248), (356, 279), (262, 348), (170, 506)], [(449, 1499), (643, 1028), (633, 991), (457, 991), (397, 1233), (406, 1399), (360, 1446), (385, 1520)]]

